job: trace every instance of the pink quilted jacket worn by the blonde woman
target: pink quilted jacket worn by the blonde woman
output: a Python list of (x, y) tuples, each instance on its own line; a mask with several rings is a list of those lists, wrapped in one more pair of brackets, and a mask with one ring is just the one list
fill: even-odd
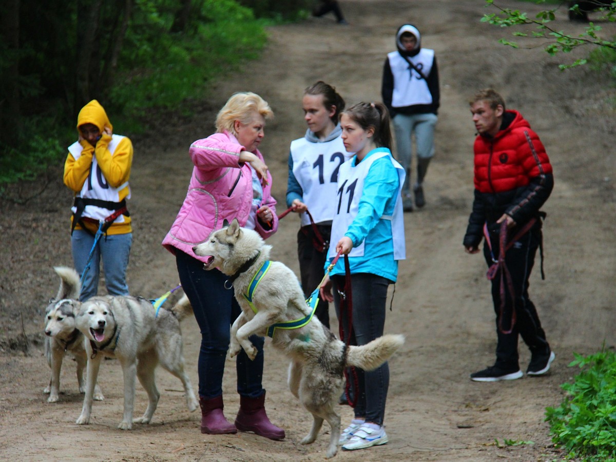
[[(224, 219), (237, 218), (243, 226), (248, 220), (253, 201), (252, 171), (248, 164), (238, 163), (243, 146), (227, 131), (197, 140), (190, 146), (190, 158), (195, 164), (186, 198), (171, 229), (164, 237), (163, 246), (172, 254), (180, 249), (205, 262), (192, 251), (193, 246), (205, 241), (213, 230), (221, 229)], [(253, 154), (263, 160), (259, 150)], [(271, 197), (272, 177), (267, 173), (261, 205), (272, 209), (271, 226), (256, 219), (255, 230), (264, 239), (278, 229), (276, 201)]]

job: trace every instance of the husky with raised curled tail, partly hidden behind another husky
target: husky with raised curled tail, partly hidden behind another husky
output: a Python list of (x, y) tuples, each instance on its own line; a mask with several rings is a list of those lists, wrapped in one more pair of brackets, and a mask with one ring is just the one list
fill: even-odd
[[(81, 283), (76, 272), (70, 268), (55, 267), (54, 270), (60, 276), (60, 288), (58, 294), (49, 301), (45, 309), (45, 356), (51, 368), (51, 379), (49, 379), (49, 386), (43, 392), (49, 394), (47, 399), (49, 403), (55, 403), (59, 399), (60, 369), (67, 352), (70, 352), (77, 362), (79, 392), (86, 391), (86, 383), (83, 380), (83, 370), (87, 362), (84, 336), (75, 327), (73, 303), (67, 300), (67, 298), (79, 297)], [(96, 384), (94, 399), (102, 401), (104, 398), (99, 384)]]

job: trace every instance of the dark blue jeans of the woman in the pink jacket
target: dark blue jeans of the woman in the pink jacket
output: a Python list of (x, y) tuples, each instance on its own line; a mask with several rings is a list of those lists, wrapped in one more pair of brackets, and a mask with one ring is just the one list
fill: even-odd
[[(228, 276), (217, 269), (206, 271), (203, 262), (178, 249), (176, 264), (180, 283), (201, 330), (197, 363), (199, 395), (206, 399), (215, 398), (222, 395), (222, 375), (229, 350), (230, 327), (240, 315), (241, 308), (233, 296), (233, 289), (224, 288)], [(265, 392), (261, 384), (265, 339), (252, 335), (250, 341), (257, 348), (257, 357), (251, 361), (244, 350), (237, 355), (237, 392), (257, 398)]]

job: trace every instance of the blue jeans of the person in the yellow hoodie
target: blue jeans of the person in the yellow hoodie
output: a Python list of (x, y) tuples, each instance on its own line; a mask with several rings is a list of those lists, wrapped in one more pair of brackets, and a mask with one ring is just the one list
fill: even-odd
[[(94, 245), (94, 236), (84, 230), (76, 229), (71, 236), (73, 263), (79, 277), (86, 268), (87, 259)], [(81, 285), (79, 300), (85, 301), (95, 296), (99, 290), (100, 260), (103, 261), (105, 286), (110, 295), (128, 295), (126, 267), (131, 253), (132, 233), (104, 234), (99, 238), (87, 274)]]

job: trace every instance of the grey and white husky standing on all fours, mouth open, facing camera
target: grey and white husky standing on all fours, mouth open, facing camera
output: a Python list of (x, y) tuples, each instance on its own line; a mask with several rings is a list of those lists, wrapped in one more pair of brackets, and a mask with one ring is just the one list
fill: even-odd
[[(76, 275), (70, 268), (65, 270)], [(70, 284), (69, 279), (63, 278), (63, 282)], [(182, 356), (180, 321), (192, 312), (185, 295), (170, 310), (155, 309), (150, 301), (128, 295), (95, 296), (85, 302), (66, 299), (65, 302), (73, 307), (75, 326), (86, 338), (86, 396), (76, 423), (90, 422), (94, 384), (103, 356), (118, 359), (124, 375), (124, 416), (118, 428), (129, 430), (132, 423), (150, 423), (160, 398), (154, 381), (158, 363), (182, 381), (188, 410), (192, 412), (199, 407)], [(133, 419), (136, 377), (148, 394), (148, 407), (142, 417)]]

